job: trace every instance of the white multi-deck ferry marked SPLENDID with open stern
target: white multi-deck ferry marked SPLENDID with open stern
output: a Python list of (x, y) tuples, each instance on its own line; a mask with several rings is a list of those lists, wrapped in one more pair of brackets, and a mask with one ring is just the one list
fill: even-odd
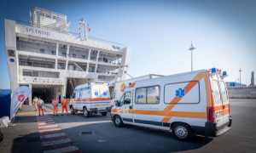
[(87, 38), (84, 18), (79, 20), (78, 33), (69, 32), (69, 26), (66, 15), (42, 8), (33, 8), (30, 23), (4, 20), (13, 91), (28, 86), (32, 96), (47, 101), (68, 97), (73, 88), (86, 82), (107, 82), (113, 87), (125, 79), (131, 48)]

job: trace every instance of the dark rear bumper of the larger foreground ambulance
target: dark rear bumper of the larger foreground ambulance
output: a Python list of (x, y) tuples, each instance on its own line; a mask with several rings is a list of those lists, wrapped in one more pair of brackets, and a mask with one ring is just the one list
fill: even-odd
[(216, 122), (206, 122), (205, 135), (208, 137), (218, 137), (223, 133), (230, 130), (232, 124), (232, 118), (230, 116), (230, 122), (224, 123), (222, 126), (217, 127)]

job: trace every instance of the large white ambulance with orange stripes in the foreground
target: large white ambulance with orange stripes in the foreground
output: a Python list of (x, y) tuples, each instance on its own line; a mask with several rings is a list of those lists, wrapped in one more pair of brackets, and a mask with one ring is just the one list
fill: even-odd
[(132, 124), (168, 131), (176, 139), (216, 137), (231, 127), (225, 71), (216, 68), (137, 81), (112, 108), (116, 127)]

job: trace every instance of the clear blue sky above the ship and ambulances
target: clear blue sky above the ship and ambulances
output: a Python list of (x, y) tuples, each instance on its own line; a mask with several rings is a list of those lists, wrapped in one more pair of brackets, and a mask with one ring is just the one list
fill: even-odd
[[(3, 19), (29, 22), (32, 7), (66, 14), (71, 31), (84, 16), (90, 37), (124, 43), (132, 48), (132, 77), (172, 75), (190, 71), (193, 40), (194, 70), (217, 67), (227, 81), (250, 84), (256, 71), (256, 1), (1, 1), (0, 88), (9, 88)], [(127, 77), (129, 78), (129, 77)]]

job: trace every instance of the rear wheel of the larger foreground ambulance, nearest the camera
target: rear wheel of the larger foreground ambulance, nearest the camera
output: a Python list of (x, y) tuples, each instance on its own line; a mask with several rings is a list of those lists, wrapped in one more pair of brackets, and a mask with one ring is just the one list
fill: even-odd
[(173, 136), (181, 141), (188, 141), (193, 137), (193, 131), (188, 124), (177, 122), (172, 127), (172, 134)]

